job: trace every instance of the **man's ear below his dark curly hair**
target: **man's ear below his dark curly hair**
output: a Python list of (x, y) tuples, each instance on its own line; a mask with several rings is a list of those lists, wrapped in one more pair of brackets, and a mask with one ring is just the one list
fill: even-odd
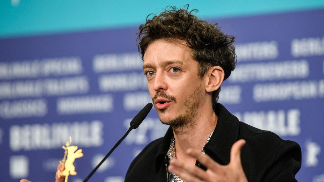
[(206, 91), (213, 92), (217, 90), (224, 81), (224, 70), (220, 66), (213, 66), (211, 67), (206, 76)]

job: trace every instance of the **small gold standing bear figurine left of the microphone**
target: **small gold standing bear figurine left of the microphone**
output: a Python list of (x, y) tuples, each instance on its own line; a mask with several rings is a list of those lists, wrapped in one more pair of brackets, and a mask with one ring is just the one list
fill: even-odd
[(69, 175), (76, 175), (76, 171), (75, 171), (75, 166), (73, 165), (74, 161), (76, 158), (80, 158), (83, 156), (82, 154), (82, 149), (78, 149), (78, 146), (70, 146), (71, 142), (72, 142), (72, 138), (69, 137), (70, 141), (67, 141), (65, 143), (66, 147), (63, 145), (62, 148), (64, 149), (64, 157), (63, 160), (60, 161), (60, 163), (62, 164), (62, 169), (63, 170), (63, 166), (64, 166), (64, 170), (61, 172), (60, 170), (58, 170), (57, 176), (60, 177), (65, 176), (65, 182), (67, 182), (67, 178)]

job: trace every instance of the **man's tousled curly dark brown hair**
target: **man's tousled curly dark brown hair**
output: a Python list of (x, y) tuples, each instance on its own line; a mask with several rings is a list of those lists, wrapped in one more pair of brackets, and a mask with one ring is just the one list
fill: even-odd
[[(236, 65), (236, 54), (233, 43), (235, 38), (224, 34), (216, 24), (209, 24), (192, 15), (197, 9), (188, 11), (167, 6), (164, 12), (151, 19), (146, 17), (146, 23), (140, 25), (138, 34), (138, 50), (142, 59), (147, 46), (158, 39), (186, 40), (188, 47), (193, 50), (193, 58), (199, 63), (198, 74), (203, 75), (213, 66), (220, 66), (229, 77)], [(220, 89), (212, 94), (213, 108), (218, 100)]]

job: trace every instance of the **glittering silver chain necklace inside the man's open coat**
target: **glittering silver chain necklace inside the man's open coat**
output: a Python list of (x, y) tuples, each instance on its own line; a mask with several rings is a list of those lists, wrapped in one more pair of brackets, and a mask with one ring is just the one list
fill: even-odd
[[(215, 130), (215, 129), (214, 129), (214, 130)], [(207, 141), (206, 141), (205, 144), (203, 145), (203, 149), (202, 149), (202, 151), (201, 151), (202, 154), (205, 154), (205, 146), (206, 146), (206, 144), (209, 142), (210, 138), (212, 137), (214, 130), (210, 133), (210, 135), (209, 135)], [(173, 158), (175, 158), (175, 159), (177, 158), (177, 156), (176, 156), (176, 147), (175, 147), (174, 142), (175, 142), (175, 139), (174, 139), (174, 136), (173, 136), (173, 137), (171, 138), (171, 142), (170, 142), (169, 150), (168, 150), (168, 153), (167, 153), (167, 156), (168, 156), (168, 162), (171, 161)], [(169, 173), (168, 176), (170, 176), (171, 182), (183, 182), (183, 180), (182, 180), (179, 176), (177, 176), (177, 175), (175, 175), (175, 174), (172, 174), (172, 173), (170, 173), (169, 171), (168, 171), (168, 173)]]

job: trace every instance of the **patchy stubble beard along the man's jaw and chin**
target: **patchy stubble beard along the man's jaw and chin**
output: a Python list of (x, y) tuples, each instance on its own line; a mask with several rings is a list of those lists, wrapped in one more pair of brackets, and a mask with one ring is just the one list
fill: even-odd
[[(173, 131), (183, 131), (187, 128), (193, 128), (196, 124), (195, 117), (198, 113), (198, 108), (202, 103), (202, 96), (201, 94), (201, 85), (198, 85), (196, 89), (185, 98), (183, 101), (183, 105), (186, 106), (186, 110), (183, 114), (178, 115), (176, 118), (167, 119), (167, 121), (160, 121), (163, 124), (170, 125)], [(165, 109), (160, 110), (160, 112), (165, 113)]]

